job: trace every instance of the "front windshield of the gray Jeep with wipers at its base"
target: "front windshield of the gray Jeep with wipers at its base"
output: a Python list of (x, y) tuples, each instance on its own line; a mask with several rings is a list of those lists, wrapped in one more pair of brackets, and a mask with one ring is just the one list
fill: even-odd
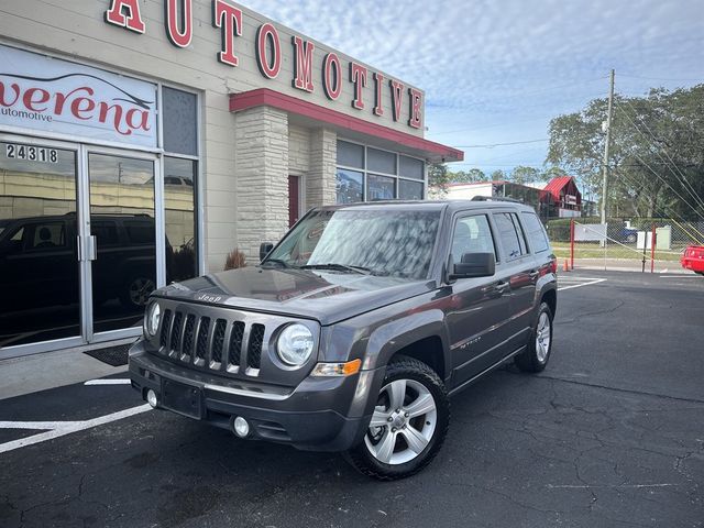
[(262, 265), (426, 278), (439, 224), (440, 211), (317, 211)]

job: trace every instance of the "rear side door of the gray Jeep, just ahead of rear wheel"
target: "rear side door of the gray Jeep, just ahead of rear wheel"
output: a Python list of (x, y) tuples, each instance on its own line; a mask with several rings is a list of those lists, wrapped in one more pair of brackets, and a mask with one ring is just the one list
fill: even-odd
[(506, 353), (525, 344), (532, 323), (536, 283), (539, 271), (528, 250), (526, 235), (516, 211), (492, 215), (502, 252), (502, 278), (510, 288), (510, 317), (506, 324)]

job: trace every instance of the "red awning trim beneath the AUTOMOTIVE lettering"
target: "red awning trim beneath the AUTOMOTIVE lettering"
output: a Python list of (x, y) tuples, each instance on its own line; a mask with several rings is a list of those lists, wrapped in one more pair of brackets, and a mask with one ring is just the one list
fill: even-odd
[(444, 158), (447, 162), (461, 162), (464, 160), (464, 152), (452, 148), (451, 146), (441, 145), (440, 143), (424, 140), (422, 138), (399, 132), (387, 127), (382, 127), (381, 124), (370, 123), (369, 121), (364, 121), (296, 97), (287, 96), (278, 91), (270, 90), (268, 88), (258, 88), (256, 90), (230, 95), (231, 112), (238, 112), (255, 107), (277, 108), (289, 113), (315, 119), (322, 123), (393, 141), (394, 143), (399, 143), (410, 148), (422, 151), (435, 157)]

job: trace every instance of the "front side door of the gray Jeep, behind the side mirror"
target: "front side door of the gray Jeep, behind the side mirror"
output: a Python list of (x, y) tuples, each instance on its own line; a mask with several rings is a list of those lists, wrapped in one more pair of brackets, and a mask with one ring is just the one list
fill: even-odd
[[(473, 252), (494, 253), (496, 258), (488, 213), (459, 215), (453, 223), (450, 252), (454, 262), (460, 262), (464, 253)], [(453, 385), (457, 387), (497, 361), (510, 310), (508, 280), (496, 275), (458, 279), (452, 284), (452, 295), (447, 302)]]

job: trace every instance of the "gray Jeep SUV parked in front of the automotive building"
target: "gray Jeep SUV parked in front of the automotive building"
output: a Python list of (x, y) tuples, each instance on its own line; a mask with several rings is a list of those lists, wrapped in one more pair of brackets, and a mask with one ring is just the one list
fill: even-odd
[(153, 407), (399, 479), (440, 449), (449, 396), (512, 358), (544, 369), (556, 305), (529, 207), (323, 207), (258, 266), (154, 292), (130, 376)]

